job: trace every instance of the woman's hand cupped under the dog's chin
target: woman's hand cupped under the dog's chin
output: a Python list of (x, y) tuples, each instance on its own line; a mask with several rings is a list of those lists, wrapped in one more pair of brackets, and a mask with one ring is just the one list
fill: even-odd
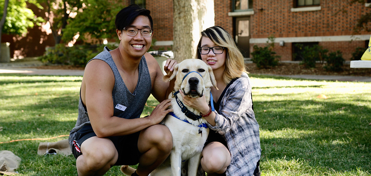
[(207, 114), (210, 110), (209, 105), (206, 103), (205, 96), (198, 97), (198, 98), (192, 98), (185, 96), (182, 90), (179, 89), (179, 93), (183, 97), (183, 103), (187, 106), (190, 106), (194, 109), (197, 109), (200, 111), (201, 114)]

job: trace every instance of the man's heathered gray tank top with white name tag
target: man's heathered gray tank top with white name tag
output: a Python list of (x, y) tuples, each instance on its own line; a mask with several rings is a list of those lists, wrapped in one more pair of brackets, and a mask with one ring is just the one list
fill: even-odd
[[(145, 103), (147, 102), (147, 99), (151, 94), (152, 89), (151, 76), (150, 72), (148, 71), (148, 66), (147, 62), (145, 61), (145, 57), (142, 56), (141, 61), (139, 63), (137, 87), (135, 87), (134, 93), (131, 93), (125, 86), (124, 80), (122, 80), (122, 77), (109, 51), (110, 50), (108, 49), (108, 47), (104, 47), (103, 52), (99, 53), (93, 59), (103, 60), (111, 67), (112, 72), (114, 73), (115, 85), (114, 89), (112, 90), (112, 99), (114, 103), (113, 104), (114, 116), (125, 119), (139, 118), (140, 115), (142, 114)], [(104, 106), (104, 104), (102, 104), (102, 106)], [(80, 95), (79, 115), (75, 127), (70, 131), (69, 135), (70, 144), (75, 139), (76, 132), (86, 124), (90, 124), (89, 115), (88, 112), (86, 111), (86, 106), (82, 103)]]

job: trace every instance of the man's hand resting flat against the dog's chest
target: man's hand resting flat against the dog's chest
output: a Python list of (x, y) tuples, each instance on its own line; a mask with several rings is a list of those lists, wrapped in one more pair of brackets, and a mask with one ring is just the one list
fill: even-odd
[(171, 99), (166, 99), (162, 101), (160, 104), (158, 104), (155, 109), (152, 111), (151, 115), (149, 115), (147, 118), (150, 118), (152, 121), (152, 124), (158, 124), (164, 119), (167, 113), (172, 112), (173, 109), (168, 109), (169, 106), (171, 106)]

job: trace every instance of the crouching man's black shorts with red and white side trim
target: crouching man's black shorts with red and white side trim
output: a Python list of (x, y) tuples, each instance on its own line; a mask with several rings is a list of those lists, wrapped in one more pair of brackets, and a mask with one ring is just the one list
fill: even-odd
[[(115, 166), (121, 165), (136, 165), (139, 163), (139, 157), (142, 153), (138, 149), (138, 138), (140, 132), (133, 133), (126, 136), (111, 136), (107, 137), (114, 143), (116, 150), (118, 152), (118, 159)], [(83, 155), (80, 151), (81, 144), (90, 137), (96, 136), (93, 131), (92, 126), (83, 126), (80, 130), (76, 132), (76, 137), (72, 144), (72, 153), (77, 159), (80, 155)]]

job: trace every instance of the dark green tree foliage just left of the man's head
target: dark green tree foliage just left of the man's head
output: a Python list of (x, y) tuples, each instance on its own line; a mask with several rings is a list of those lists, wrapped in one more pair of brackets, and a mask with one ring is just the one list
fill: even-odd
[(76, 17), (68, 20), (68, 26), (63, 29), (62, 39), (70, 41), (73, 36), (80, 34), (78, 40), (83, 40), (86, 33), (95, 39), (117, 38), (115, 17), (124, 7), (122, 0), (115, 1), (115, 6), (107, 0), (83, 2), (82, 9), (77, 12)]

